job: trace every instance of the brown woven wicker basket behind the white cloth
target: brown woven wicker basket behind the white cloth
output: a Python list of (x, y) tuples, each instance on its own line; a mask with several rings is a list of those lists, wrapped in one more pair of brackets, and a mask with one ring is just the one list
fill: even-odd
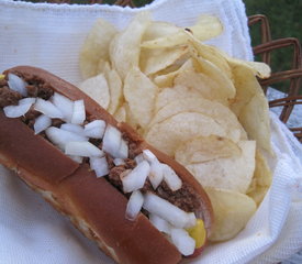
[[(34, 2), (40, 2), (34, 1)], [(48, 0), (49, 3), (79, 3), (76, 0)], [(152, 2), (152, 0), (149, 1)], [(93, 4), (93, 3), (104, 3), (103, 0), (87, 0), (80, 1), (80, 3)], [(121, 7), (132, 7), (135, 4), (132, 0), (118, 0), (113, 1), (113, 4)], [(262, 14), (256, 14), (248, 18), (248, 25), (251, 28), (255, 24), (260, 24), (260, 36), (261, 43), (259, 45), (254, 46), (253, 51), (255, 55), (261, 55), (261, 61), (271, 66), (271, 53), (278, 52), (281, 48), (293, 46), (292, 54), (292, 67), (291, 69), (272, 73), (268, 79), (259, 79), (264, 91), (267, 91), (269, 86), (273, 86), (275, 84), (289, 80), (289, 86), (286, 88), (286, 97), (270, 100), (270, 108), (281, 108), (281, 113), (279, 116), (280, 120), (287, 124), (289, 118), (294, 109), (294, 106), (302, 105), (302, 88), (301, 87), (301, 78), (302, 78), (302, 54), (301, 54), (301, 45), (298, 38), (287, 37), (279, 40), (271, 40), (270, 34), (270, 25), (268, 19)], [(290, 57), (290, 56), (289, 56)], [(299, 125), (295, 128), (289, 128), (294, 135), (298, 138), (300, 142), (302, 142), (302, 120), (299, 120)]]

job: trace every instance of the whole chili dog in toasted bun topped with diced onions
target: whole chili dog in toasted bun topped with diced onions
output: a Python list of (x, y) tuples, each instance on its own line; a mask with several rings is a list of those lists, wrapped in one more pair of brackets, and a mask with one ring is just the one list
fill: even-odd
[(0, 122), (0, 163), (116, 263), (172, 264), (204, 246), (213, 212), (199, 183), (75, 86), (8, 69)]

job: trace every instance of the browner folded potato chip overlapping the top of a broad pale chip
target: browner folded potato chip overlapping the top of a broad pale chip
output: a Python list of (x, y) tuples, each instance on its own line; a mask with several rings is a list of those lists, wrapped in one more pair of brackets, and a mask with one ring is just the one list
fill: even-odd
[(235, 142), (210, 135), (198, 136), (180, 145), (175, 153), (175, 160), (184, 166), (216, 158), (239, 157), (241, 155), (242, 150)]

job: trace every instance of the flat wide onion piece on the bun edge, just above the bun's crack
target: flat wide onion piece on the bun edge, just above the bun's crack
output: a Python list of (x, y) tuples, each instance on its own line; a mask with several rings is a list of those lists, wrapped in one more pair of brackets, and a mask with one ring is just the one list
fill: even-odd
[(103, 151), (99, 147), (94, 146), (88, 141), (71, 141), (68, 142), (65, 146), (65, 154), (75, 155), (75, 156), (96, 156), (102, 157), (104, 156)]

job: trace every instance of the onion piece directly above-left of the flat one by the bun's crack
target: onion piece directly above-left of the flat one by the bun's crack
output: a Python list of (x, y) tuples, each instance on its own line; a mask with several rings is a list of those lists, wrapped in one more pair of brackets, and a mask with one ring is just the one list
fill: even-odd
[(87, 138), (76, 134), (70, 131), (61, 130), (55, 127), (51, 127), (45, 130), (45, 133), (49, 141), (57, 145), (60, 150), (65, 151), (65, 146), (71, 141), (88, 141)]

